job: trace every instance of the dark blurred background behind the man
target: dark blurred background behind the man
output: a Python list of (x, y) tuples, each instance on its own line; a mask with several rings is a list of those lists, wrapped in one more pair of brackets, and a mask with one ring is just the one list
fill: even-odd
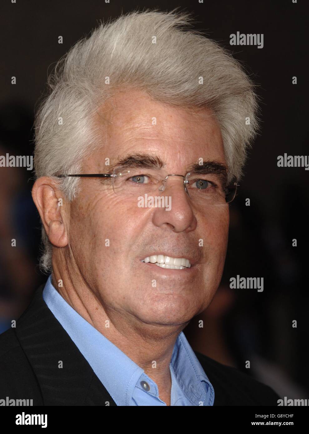
[[(210, 307), (184, 332), (195, 350), (253, 375), (288, 398), (309, 398), (309, 171), (277, 167), (278, 155), (308, 155), (304, 3), (8, 0), (0, 5), (0, 155), (32, 155), (35, 104), (46, 92), (55, 62), (99, 20), (135, 8), (193, 11), (195, 28), (230, 49), (258, 84), (261, 132), (249, 153), (239, 195), (230, 205), (224, 276)], [(263, 33), (263, 49), (230, 46), (230, 34), (237, 31)], [(32, 185), (33, 173), (26, 168), (0, 168), (0, 331), (20, 316), (47, 279), (37, 266), (40, 223)], [(246, 198), (250, 206), (245, 206)], [(294, 238), (297, 247), (292, 247)], [(230, 277), (237, 274), (263, 277), (264, 291), (230, 289)], [(293, 320), (297, 328), (292, 328)], [(247, 360), (250, 369), (245, 368)]]

